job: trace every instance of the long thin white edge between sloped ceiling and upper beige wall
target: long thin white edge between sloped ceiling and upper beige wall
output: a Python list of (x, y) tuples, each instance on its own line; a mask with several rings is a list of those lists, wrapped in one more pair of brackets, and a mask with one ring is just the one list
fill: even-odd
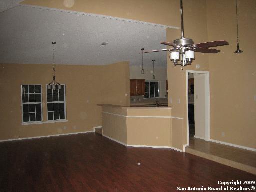
[(163, 28), (180, 29), (180, 27), (176, 27), (176, 26), (167, 26), (167, 25), (162, 25), (162, 24), (144, 22), (144, 21), (133, 20), (133, 19), (125, 19), (125, 18), (119, 18), (119, 17), (107, 16), (107, 15), (101, 15), (101, 14), (77, 12), (77, 11), (63, 10), (63, 9), (57, 9), (57, 8), (48, 8), (48, 7), (43, 7), (43, 6), (28, 5), (28, 4), (19, 4), (18, 6), (38, 8), (38, 9), (49, 10), (49, 11), (58, 11), (58, 12), (64, 12), (64, 13), (68, 13), (68, 14), (79, 14), (79, 15), (85, 15), (85, 16), (94, 16), (94, 17), (99, 17), (99, 18), (107, 18), (107, 19), (120, 20), (120, 21), (125, 21), (125, 22), (132, 22), (132, 23), (147, 24), (147, 25), (163, 27)]

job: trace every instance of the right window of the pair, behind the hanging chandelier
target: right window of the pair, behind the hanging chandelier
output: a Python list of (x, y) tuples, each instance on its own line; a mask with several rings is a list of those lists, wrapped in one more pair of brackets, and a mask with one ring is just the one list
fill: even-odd
[[(47, 89), (47, 86), (46, 86)], [(66, 119), (65, 85), (61, 89), (47, 89), (47, 116), (48, 120)]]

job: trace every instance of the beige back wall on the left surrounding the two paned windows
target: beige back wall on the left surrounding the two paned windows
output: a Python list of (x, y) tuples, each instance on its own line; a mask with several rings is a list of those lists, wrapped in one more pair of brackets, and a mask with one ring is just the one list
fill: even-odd
[[(22, 84), (42, 84), (46, 121), (46, 84), (52, 65), (0, 64), (0, 140), (91, 131), (101, 125), (100, 103), (129, 106), (129, 63), (105, 66), (57, 65), (56, 77), (66, 84), (68, 122), (21, 125)], [(127, 96), (125, 96), (127, 94)]]

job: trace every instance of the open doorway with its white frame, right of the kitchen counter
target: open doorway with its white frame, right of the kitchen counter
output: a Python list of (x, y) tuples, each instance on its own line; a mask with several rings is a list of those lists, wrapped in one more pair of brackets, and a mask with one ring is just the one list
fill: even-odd
[(210, 139), (209, 72), (186, 71), (187, 145), (189, 138)]

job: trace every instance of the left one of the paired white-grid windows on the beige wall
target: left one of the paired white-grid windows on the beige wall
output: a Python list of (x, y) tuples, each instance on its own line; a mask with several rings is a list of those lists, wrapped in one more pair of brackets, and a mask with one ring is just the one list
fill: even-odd
[(21, 92), (23, 122), (42, 121), (41, 85), (21, 85)]

